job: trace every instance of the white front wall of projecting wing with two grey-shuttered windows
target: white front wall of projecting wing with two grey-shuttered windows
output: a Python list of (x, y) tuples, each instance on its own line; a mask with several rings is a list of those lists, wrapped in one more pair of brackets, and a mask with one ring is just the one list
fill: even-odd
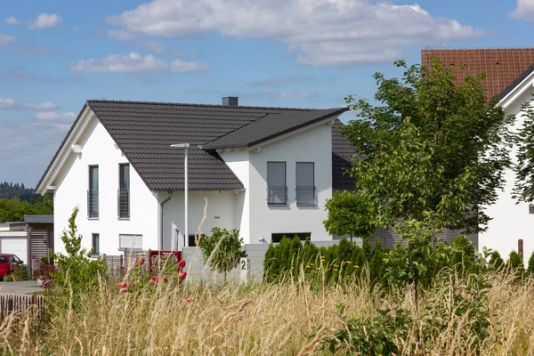
[[(265, 145), (250, 157), (250, 231), (246, 243), (268, 242), (271, 233), (312, 232), (312, 240), (332, 239), (323, 221), (326, 199), (332, 198), (332, 127), (324, 124)], [(287, 206), (267, 205), (267, 162), (285, 161)], [(317, 206), (296, 206), (295, 163), (315, 162)]]

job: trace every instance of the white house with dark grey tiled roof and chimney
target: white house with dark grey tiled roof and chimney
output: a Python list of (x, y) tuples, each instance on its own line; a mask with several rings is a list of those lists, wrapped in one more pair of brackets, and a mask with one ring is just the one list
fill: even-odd
[(245, 243), (332, 239), (325, 201), (354, 186), (343, 174), (352, 157), (339, 130), (346, 110), (241, 107), (236, 97), (223, 105), (87, 101), (36, 187), (53, 193), (56, 251), (75, 206), (95, 253), (169, 249), (172, 223), (184, 227), (184, 149), (171, 145), (184, 142), (186, 245), (213, 227), (239, 229)]

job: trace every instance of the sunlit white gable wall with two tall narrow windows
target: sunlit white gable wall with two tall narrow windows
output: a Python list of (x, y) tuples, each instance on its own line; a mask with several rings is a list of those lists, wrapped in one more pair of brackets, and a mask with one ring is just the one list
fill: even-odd
[[(70, 152), (67, 164), (53, 184), (54, 192), (54, 244), (55, 250), (64, 252), (61, 233), (75, 206), (78, 232), (84, 236), (83, 246), (92, 247), (92, 234), (100, 234), (101, 254), (117, 255), (119, 234), (142, 234), (143, 249), (158, 248), (158, 201), (141, 177), (130, 166), (130, 218), (117, 218), (118, 164), (128, 160), (117, 149), (115, 142), (96, 118), (92, 118), (85, 134), (76, 142), (83, 147), (81, 154)], [(87, 217), (87, 189), (90, 165), (99, 166), (98, 219)]]

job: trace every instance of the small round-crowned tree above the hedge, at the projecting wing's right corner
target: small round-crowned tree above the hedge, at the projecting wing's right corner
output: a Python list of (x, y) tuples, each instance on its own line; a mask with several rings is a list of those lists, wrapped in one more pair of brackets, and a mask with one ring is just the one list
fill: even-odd
[(368, 238), (375, 231), (370, 223), (367, 200), (360, 194), (347, 190), (336, 191), (331, 199), (327, 200), (325, 208), (328, 210), (328, 219), (323, 223), (331, 235), (350, 235)]

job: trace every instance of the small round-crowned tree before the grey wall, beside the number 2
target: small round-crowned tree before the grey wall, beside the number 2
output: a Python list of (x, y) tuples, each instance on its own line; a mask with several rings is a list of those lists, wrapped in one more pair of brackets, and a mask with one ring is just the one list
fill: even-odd
[(243, 239), (239, 238), (239, 230), (228, 231), (221, 228), (213, 228), (211, 236), (200, 239), (200, 249), (206, 263), (212, 271), (226, 274), (238, 267), (239, 260), (247, 257), (247, 253), (241, 250)]

